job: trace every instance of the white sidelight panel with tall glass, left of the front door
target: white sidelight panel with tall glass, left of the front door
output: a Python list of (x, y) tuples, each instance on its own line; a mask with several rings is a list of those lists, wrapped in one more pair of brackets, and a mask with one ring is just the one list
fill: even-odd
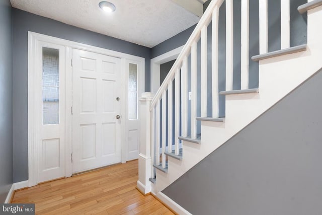
[(38, 92), (38, 182), (65, 176), (65, 47), (40, 42)]

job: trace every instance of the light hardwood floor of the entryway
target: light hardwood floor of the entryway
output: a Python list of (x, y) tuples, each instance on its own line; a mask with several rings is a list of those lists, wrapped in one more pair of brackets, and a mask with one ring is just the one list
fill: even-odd
[(35, 203), (36, 214), (174, 214), (137, 179), (135, 160), (18, 190), (12, 203)]

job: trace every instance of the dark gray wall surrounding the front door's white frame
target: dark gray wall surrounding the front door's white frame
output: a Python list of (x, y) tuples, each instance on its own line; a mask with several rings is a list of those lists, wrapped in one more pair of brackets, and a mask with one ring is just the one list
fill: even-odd
[(15, 80), (13, 83), (14, 182), (28, 179), (28, 31), (144, 57), (145, 91), (150, 90), (150, 48), (13, 9), (13, 79)]

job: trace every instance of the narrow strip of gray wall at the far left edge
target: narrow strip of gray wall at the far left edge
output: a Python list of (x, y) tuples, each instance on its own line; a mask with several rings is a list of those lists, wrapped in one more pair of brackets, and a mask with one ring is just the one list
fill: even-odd
[(0, 1), (0, 203), (13, 183), (12, 20), (9, 0)]

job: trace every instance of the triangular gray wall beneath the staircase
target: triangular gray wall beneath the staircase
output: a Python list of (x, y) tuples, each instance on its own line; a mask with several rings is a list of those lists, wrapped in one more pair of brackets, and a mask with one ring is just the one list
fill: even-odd
[(322, 214), (322, 69), (163, 190), (192, 214)]

